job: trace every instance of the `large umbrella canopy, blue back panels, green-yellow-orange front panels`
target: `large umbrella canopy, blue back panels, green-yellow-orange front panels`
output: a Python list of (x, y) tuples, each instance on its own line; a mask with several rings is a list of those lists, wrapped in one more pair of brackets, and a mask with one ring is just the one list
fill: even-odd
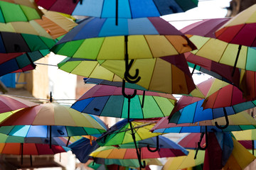
[[(126, 38), (127, 36), (127, 42)], [(124, 60), (178, 55), (196, 49), (191, 42), (162, 18), (88, 18), (67, 33), (51, 49), (57, 55), (87, 60)]]

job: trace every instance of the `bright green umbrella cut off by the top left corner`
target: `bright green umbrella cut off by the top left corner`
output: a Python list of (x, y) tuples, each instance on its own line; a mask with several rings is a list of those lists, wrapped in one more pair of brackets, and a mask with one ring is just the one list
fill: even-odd
[(38, 6), (29, 0), (0, 1), (0, 8), (0, 23), (32, 21), (43, 15)]

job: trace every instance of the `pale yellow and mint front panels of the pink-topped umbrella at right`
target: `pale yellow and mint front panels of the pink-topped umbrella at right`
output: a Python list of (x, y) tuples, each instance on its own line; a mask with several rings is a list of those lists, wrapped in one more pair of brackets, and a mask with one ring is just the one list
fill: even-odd
[[(202, 32), (203, 29), (205, 28), (201, 28)], [(214, 37), (214, 32), (212, 31), (211, 33)], [(234, 75), (235, 72), (238, 72), (238, 70), (235, 69), (236, 67), (239, 69), (255, 71), (255, 61), (253, 58), (256, 53), (255, 48), (224, 42), (215, 37), (203, 37), (201, 35), (187, 36), (198, 48), (198, 50), (191, 51), (193, 55), (233, 67), (231, 76)], [(239, 56), (239, 58), (235, 56)]]

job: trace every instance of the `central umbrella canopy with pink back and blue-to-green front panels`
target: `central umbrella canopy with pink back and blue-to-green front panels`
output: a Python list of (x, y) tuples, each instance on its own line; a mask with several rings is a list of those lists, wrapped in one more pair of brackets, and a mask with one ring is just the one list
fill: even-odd
[[(134, 90), (125, 91), (126, 94), (133, 94)], [(78, 98), (71, 108), (92, 115), (128, 118), (127, 103), (121, 87), (96, 85)], [(137, 96), (131, 99), (129, 118), (164, 117), (171, 113), (175, 103), (176, 98), (171, 94), (137, 91)]]

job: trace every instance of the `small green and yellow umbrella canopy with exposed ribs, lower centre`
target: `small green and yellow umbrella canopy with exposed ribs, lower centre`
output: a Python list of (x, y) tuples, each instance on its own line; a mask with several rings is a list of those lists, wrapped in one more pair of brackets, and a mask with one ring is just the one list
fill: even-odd
[[(135, 131), (136, 141), (158, 136), (160, 133), (149, 132), (156, 124), (156, 120), (130, 120), (132, 129)], [(121, 120), (113, 125), (104, 135), (97, 138), (100, 146), (122, 145), (133, 142), (132, 130), (127, 119)]]

